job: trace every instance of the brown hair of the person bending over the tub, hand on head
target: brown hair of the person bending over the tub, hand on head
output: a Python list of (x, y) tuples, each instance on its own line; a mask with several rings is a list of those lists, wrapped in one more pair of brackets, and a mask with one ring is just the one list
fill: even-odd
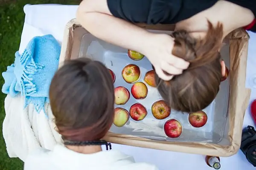
[(185, 30), (175, 31), (172, 54), (190, 62), (183, 74), (163, 81), (156, 75), (160, 95), (177, 111), (196, 112), (206, 108), (215, 99), (221, 82), (222, 24), (214, 28), (208, 21), (203, 39), (189, 36)]

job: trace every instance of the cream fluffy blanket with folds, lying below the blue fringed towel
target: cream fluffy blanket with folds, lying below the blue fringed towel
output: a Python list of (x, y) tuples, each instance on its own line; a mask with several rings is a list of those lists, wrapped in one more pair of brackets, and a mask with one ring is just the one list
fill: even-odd
[(23, 109), (24, 97), (7, 95), (4, 106), (6, 116), (3, 121), (3, 138), (6, 150), (11, 158), (25, 161), (26, 156), (39, 147), (52, 150), (61, 143), (61, 136), (54, 130), (53, 115), (49, 104), (45, 111), (37, 113), (33, 105)]

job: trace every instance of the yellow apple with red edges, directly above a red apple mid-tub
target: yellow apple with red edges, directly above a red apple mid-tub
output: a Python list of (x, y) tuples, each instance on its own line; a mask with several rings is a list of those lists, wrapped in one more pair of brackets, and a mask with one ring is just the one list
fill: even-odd
[(145, 99), (148, 95), (148, 88), (143, 82), (137, 82), (131, 86), (131, 94), (135, 99)]

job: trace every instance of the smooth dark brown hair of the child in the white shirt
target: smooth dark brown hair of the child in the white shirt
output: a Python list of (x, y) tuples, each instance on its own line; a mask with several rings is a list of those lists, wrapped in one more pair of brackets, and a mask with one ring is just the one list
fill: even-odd
[(65, 140), (99, 140), (113, 123), (113, 82), (101, 62), (87, 58), (66, 62), (52, 79), (49, 99)]

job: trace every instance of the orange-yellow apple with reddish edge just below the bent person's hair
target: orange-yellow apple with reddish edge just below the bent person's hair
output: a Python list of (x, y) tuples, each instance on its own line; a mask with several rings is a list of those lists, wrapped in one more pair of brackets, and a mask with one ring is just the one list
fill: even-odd
[(165, 119), (171, 114), (171, 108), (163, 100), (154, 102), (151, 107), (151, 111), (156, 119)]

